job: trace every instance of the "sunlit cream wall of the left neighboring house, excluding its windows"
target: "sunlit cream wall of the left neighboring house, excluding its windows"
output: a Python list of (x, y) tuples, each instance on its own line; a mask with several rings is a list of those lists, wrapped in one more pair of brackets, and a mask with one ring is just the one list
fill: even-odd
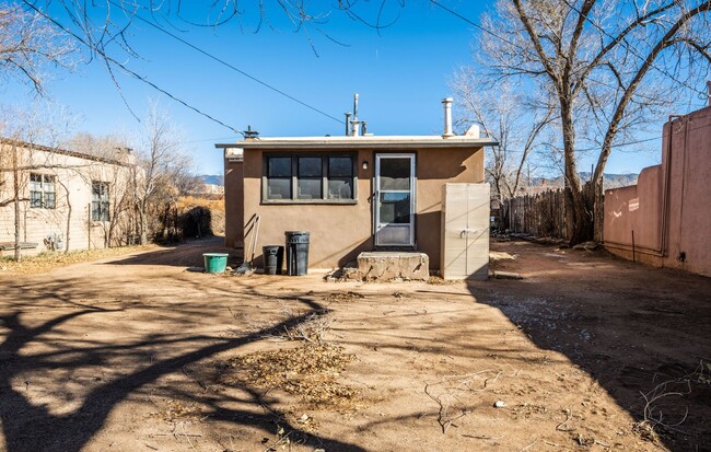
[[(0, 143), (0, 243), (15, 240), (15, 211), (13, 196), (12, 155), (18, 152), (21, 242), (37, 243), (36, 248), (23, 250), (23, 255), (47, 251), (45, 239), (60, 235), (61, 250), (69, 240), (69, 250), (106, 246), (110, 222), (90, 221), (92, 181), (109, 186), (109, 212), (116, 213), (117, 194), (123, 193), (131, 176), (130, 167), (82, 159), (77, 154), (51, 152), (45, 149)], [(30, 206), (30, 174), (55, 176), (56, 207), (54, 209)], [(120, 224), (114, 223), (114, 236), (121, 234)], [(4, 254), (12, 254), (5, 251)]]

